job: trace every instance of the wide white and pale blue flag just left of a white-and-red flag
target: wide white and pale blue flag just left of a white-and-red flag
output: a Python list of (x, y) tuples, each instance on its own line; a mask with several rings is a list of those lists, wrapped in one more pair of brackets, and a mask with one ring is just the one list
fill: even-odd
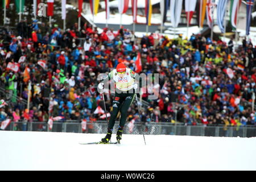
[(171, 0), (170, 2), (172, 27), (177, 27), (180, 22), (182, 2), (180, 0)]

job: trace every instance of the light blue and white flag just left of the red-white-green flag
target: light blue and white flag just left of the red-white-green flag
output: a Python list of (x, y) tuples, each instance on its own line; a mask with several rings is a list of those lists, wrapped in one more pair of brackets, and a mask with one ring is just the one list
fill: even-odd
[(217, 4), (217, 24), (222, 33), (225, 32), (224, 23), (226, 15), (226, 4), (228, 0), (219, 0)]

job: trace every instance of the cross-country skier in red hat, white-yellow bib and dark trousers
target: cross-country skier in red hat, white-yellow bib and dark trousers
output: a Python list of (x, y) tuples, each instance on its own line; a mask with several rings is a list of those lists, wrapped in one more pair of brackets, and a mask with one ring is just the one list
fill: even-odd
[(121, 113), (121, 118), (117, 130), (117, 142), (122, 139), (123, 126), (125, 126), (127, 118), (127, 110), (133, 103), (135, 90), (138, 88), (138, 84), (135, 83), (135, 80), (139, 81), (139, 75), (130, 68), (126, 68), (125, 64), (119, 63), (117, 68), (113, 69), (108, 77), (98, 84), (98, 89), (102, 90), (104, 84), (111, 79), (115, 81), (115, 97), (112, 105), (113, 110), (108, 123), (108, 132), (106, 137), (101, 139), (101, 143), (108, 143), (110, 141), (115, 119), (117, 118), (119, 111)]

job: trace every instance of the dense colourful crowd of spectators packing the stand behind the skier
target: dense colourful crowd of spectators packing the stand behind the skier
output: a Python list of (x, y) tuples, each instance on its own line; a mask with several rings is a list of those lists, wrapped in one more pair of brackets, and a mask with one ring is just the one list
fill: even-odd
[[(7, 93), (1, 93), (7, 105), (0, 108), (0, 121), (48, 121), (51, 116), (99, 120), (102, 114), (94, 111), (104, 105), (97, 92), (98, 75), (121, 62), (135, 70), (140, 52), (142, 73), (159, 74), (159, 82), (143, 89), (141, 98), (148, 102), (141, 109), (143, 122), (255, 124), (256, 49), (250, 40), (235, 48), (233, 39), (212, 41), (199, 34), (189, 39), (155, 39), (154, 34), (137, 38), (125, 28), (99, 32), (85, 23), (79, 31), (76, 23), (63, 31), (57, 24), (49, 27), (37, 20), (22, 20), (15, 31), (4, 27), (0, 33), (0, 87)], [(9, 63), (19, 63), (18, 71), (7, 69)], [(158, 99), (148, 100), (157, 89)], [(110, 112), (113, 97), (105, 97)], [(22, 100), (30, 101), (29, 109)], [(139, 121), (137, 104), (128, 113), (128, 121)]]

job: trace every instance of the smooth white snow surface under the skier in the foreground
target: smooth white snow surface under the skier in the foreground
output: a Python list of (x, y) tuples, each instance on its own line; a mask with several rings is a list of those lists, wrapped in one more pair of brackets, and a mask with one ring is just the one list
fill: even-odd
[[(0, 170), (255, 170), (256, 138), (0, 131)], [(115, 134), (113, 134), (115, 140)], [(121, 163), (120, 163), (121, 162)]]

